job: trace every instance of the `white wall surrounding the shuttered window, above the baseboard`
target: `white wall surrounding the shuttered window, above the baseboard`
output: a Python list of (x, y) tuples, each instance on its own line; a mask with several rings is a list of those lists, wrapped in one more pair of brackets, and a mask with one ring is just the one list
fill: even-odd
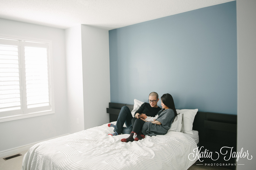
[(0, 123), (0, 151), (68, 132), (64, 30), (0, 19), (0, 34), (52, 41), (55, 114)]

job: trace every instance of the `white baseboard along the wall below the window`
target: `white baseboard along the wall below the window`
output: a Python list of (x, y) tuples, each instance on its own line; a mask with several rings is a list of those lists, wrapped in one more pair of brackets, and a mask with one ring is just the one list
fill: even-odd
[[(61, 136), (65, 136), (65, 135), (68, 135), (70, 133), (67, 133), (67, 134), (63, 134), (63, 135), (60, 135), (60, 136), (56, 136), (56, 137), (61, 137)], [(50, 140), (50, 139), (54, 139), (56, 137), (52, 137), (52, 138), (49, 138), (49, 139), (45, 139), (45, 140)], [(41, 140), (41, 141), (38, 141), (38, 142), (34, 142), (34, 143), (30, 143), (30, 144), (27, 144), (27, 145), (23, 145), (23, 146), (19, 146), (19, 147), (15, 147), (15, 148), (11, 148), (11, 149), (7, 149), (7, 150), (3, 150), (3, 151), (0, 151), (0, 158), (1, 157), (5, 157), (5, 156), (9, 156), (9, 155), (13, 155), (13, 154), (16, 154), (18, 152), (22, 152), (24, 150), (28, 150), (29, 148), (31, 148), (33, 145), (39, 143), (39, 142), (42, 142), (42, 141), (45, 141), (45, 140)]]

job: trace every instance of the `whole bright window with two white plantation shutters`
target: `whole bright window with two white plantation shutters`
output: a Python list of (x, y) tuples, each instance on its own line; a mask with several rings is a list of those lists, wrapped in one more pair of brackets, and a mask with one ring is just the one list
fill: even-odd
[(50, 44), (0, 36), (0, 122), (54, 113)]

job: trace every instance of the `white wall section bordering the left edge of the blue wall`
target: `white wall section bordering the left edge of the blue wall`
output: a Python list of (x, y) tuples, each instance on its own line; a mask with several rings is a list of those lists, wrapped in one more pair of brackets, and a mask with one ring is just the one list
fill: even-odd
[(108, 30), (81, 25), (84, 129), (109, 122), (110, 102)]

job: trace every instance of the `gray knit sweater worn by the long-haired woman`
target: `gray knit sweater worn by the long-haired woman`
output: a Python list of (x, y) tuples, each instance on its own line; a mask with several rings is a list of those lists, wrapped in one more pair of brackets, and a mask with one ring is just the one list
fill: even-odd
[(161, 122), (161, 125), (153, 124), (151, 122), (144, 123), (141, 132), (144, 135), (155, 136), (164, 135), (168, 129), (171, 128), (172, 121), (174, 119), (174, 111), (172, 109), (162, 109), (158, 113), (156, 121)]

